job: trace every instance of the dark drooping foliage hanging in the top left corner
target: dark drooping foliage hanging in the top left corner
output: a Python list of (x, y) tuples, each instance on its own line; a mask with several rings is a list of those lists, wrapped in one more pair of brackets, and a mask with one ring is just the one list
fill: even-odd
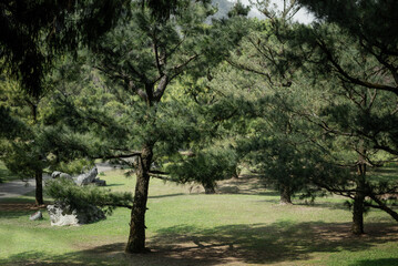
[(2, 69), (34, 96), (44, 92), (53, 59), (92, 43), (125, 12), (129, 1), (14, 1), (0, 6)]

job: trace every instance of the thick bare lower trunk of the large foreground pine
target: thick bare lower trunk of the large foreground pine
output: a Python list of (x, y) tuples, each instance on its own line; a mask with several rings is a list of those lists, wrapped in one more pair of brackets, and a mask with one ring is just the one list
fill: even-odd
[(125, 247), (126, 253), (149, 252), (145, 247), (145, 212), (150, 185), (150, 167), (153, 156), (152, 150), (153, 145), (144, 145), (141, 158), (139, 160), (134, 202), (131, 211), (130, 235)]

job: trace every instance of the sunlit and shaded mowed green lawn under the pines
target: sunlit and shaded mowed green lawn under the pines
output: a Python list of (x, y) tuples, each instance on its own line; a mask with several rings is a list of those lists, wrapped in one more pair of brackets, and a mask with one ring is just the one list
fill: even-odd
[[(135, 183), (122, 171), (101, 178), (113, 191), (132, 191)], [(384, 212), (371, 211), (367, 234), (357, 237), (344, 198), (279, 205), (278, 195), (253, 178), (223, 182), (220, 191), (205, 195), (196, 186), (151, 180), (152, 253), (144, 255), (123, 253), (129, 209), (94, 224), (52, 227), (47, 212), (31, 222), (34, 211), (0, 208), (0, 265), (398, 265), (398, 224)]]

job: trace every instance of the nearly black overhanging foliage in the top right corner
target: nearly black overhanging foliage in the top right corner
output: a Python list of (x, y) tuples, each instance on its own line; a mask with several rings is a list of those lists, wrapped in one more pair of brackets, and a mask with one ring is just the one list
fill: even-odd
[(336, 23), (349, 35), (360, 40), (361, 49), (365, 51), (397, 57), (398, 29), (395, 20), (398, 16), (397, 1), (298, 0), (298, 2), (317, 18)]

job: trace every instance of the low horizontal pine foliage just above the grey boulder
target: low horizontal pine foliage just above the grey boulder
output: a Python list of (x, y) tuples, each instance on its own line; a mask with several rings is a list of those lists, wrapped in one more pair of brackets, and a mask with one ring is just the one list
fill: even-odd
[(55, 202), (65, 203), (71, 209), (82, 209), (88, 205), (104, 208), (109, 214), (116, 207), (132, 207), (133, 195), (127, 192), (111, 192), (94, 185), (76, 186), (67, 178), (45, 182), (45, 192)]

